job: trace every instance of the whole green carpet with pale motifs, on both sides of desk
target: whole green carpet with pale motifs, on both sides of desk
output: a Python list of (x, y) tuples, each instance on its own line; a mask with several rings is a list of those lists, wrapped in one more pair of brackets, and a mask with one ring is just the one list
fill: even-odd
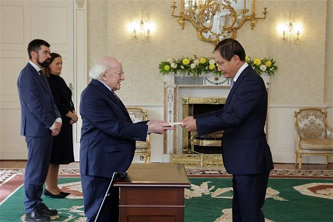
[[(66, 183), (67, 187), (77, 191), (80, 189), (78, 181), (78, 177), (59, 178), (59, 184)], [(185, 190), (186, 222), (232, 221), (231, 178), (190, 178), (190, 182), (193, 184), (191, 189)], [(293, 188), (308, 183), (323, 183), (317, 193), (326, 198), (304, 195)], [(266, 221), (333, 221), (333, 188), (332, 184), (326, 187), (324, 183), (333, 183), (333, 180), (270, 178), (263, 207)], [(54, 199), (43, 195), (44, 202), (59, 211), (59, 216), (53, 217), (52, 221), (84, 221), (83, 199), (77, 198)], [(23, 199), (21, 186), (0, 205), (0, 221), (21, 221), (25, 207)]]

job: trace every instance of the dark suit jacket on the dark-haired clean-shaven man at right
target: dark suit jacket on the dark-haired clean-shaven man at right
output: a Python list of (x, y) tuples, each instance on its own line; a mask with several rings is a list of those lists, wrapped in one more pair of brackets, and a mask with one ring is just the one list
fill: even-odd
[(195, 117), (198, 134), (224, 130), (222, 157), (230, 174), (257, 174), (273, 169), (264, 132), (267, 91), (262, 78), (246, 67), (229, 92), (222, 110)]

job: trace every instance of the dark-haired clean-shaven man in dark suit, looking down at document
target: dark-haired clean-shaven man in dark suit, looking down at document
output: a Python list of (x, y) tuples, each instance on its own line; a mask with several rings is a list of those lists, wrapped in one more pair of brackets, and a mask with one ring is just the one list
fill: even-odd
[(267, 91), (262, 78), (245, 62), (243, 47), (233, 39), (222, 40), (214, 50), (218, 70), (234, 82), (222, 110), (182, 120), (190, 132), (224, 130), (223, 164), (232, 174), (232, 221), (264, 221), (268, 176), (273, 161), (264, 126)]

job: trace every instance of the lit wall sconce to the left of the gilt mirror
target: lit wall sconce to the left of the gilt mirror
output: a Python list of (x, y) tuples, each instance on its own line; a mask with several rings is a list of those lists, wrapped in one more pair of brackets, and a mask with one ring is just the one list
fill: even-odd
[(148, 19), (136, 19), (128, 27), (129, 31), (132, 33), (132, 40), (134, 42), (137, 43), (140, 39), (144, 42), (151, 42), (151, 34), (154, 31), (155, 25)]

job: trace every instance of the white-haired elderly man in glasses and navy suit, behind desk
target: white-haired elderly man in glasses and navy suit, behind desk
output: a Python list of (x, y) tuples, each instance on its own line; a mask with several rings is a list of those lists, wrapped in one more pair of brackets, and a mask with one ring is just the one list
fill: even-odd
[[(135, 140), (148, 133), (162, 134), (168, 127), (159, 120), (133, 124), (115, 94), (125, 80), (122, 64), (102, 57), (89, 72), (92, 81), (81, 94), (80, 173), (87, 222), (94, 221), (113, 172), (126, 172), (135, 152)], [(99, 221), (118, 221), (119, 190), (113, 188)]]

